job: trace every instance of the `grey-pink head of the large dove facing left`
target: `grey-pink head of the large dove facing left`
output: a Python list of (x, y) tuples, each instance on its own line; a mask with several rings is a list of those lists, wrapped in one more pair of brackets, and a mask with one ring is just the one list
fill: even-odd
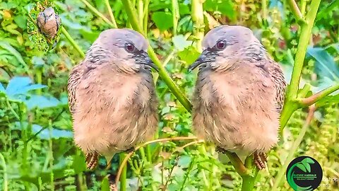
[(196, 62), (189, 66), (189, 70), (198, 66), (203, 68), (210, 64), (218, 66), (224, 64), (224, 58), (234, 57), (239, 50), (244, 50), (254, 43), (260, 45), (249, 28), (240, 25), (221, 25), (210, 30), (203, 38), (203, 52)]

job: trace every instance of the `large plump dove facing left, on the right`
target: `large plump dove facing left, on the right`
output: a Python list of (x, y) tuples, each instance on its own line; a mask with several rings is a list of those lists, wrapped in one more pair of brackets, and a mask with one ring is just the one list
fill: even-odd
[(193, 98), (193, 127), (218, 151), (254, 154), (265, 168), (266, 153), (278, 142), (285, 79), (249, 28), (221, 25), (203, 38)]

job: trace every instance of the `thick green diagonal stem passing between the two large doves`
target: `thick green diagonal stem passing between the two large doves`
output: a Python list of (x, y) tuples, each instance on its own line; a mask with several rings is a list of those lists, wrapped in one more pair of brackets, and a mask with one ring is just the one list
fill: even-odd
[[(122, 4), (124, 4), (125, 11), (127, 13), (127, 16), (129, 16), (129, 22), (132, 25), (132, 28), (139, 33), (143, 33), (143, 30), (141, 29), (141, 25), (138, 24), (138, 19), (136, 18), (136, 11), (134, 10), (134, 7), (131, 5), (131, 1), (125, 0), (121, 1)], [(165, 68), (162, 66), (160, 60), (157, 58), (157, 54), (155, 54), (154, 50), (152, 47), (148, 46), (148, 54), (150, 56), (150, 59), (153, 60), (154, 64), (159, 68), (159, 76), (162, 78), (163, 81), (167, 84), (168, 88), (172, 91), (174, 96), (179, 100), (180, 103), (186, 108), (186, 110), (191, 111), (191, 103), (189, 100), (184, 96), (182, 91), (178, 88), (177, 85), (175, 85), (174, 81), (169, 77), (167, 74), (167, 71)]]

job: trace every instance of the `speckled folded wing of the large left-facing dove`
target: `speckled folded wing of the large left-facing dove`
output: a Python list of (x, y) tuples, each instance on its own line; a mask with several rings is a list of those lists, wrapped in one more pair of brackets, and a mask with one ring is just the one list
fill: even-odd
[(271, 68), (270, 74), (272, 75), (273, 78), (273, 83), (275, 86), (275, 100), (278, 103), (278, 111), (281, 112), (283, 109), (284, 105), (284, 100), (285, 100), (285, 88), (286, 88), (286, 81), (285, 77), (283, 74), (283, 71), (281, 70), (279, 64), (277, 62), (271, 61), (273, 64), (273, 67)]

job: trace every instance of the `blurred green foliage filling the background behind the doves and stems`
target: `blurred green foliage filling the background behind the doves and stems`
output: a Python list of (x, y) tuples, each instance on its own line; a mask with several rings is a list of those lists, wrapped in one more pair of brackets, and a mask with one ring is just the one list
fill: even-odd
[[(134, 1), (137, 4), (139, 1)], [(145, 2), (145, 1), (142, 1)], [(266, 4), (264, 4), (264, 2)], [(302, 70), (303, 86), (316, 93), (339, 81), (339, 1), (322, 1), (313, 28), (311, 45)], [(109, 18), (104, 1), (90, 1)], [(170, 0), (153, 0), (148, 6), (148, 39), (174, 82), (191, 95), (195, 74), (187, 66), (198, 57), (191, 1), (179, 0), (177, 31)], [(120, 0), (110, 1), (119, 27), (130, 27)], [(102, 30), (102, 18), (79, 0), (0, 1), (0, 190), (102, 190), (114, 179), (118, 158), (105, 170), (105, 160), (94, 171), (85, 170), (85, 160), (72, 140), (71, 116), (66, 83), (81, 56), (64, 35), (47, 52), (44, 37), (28, 18), (43, 7), (59, 13), (66, 30), (83, 51)], [(145, 10), (145, 8), (143, 8)], [(205, 33), (215, 23), (245, 25), (261, 40), (270, 55), (280, 62), (290, 81), (299, 27), (285, 1), (206, 0), (203, 4)], [(308, 11), (308, 6), (304, 11)], [(177, 35), (174, 35), (177, 34)], [(160, 124), (157, 137), (189, 136), (189, 112), (180, 105), (164, 81), (157, 79)], [(321, 163), (324, 178), (339, 178), (339, 97), (321, 100), (295, 156), (309, 155)], [(268, 158), (268, 170), (259, 173), (256, 190), (269, 190), (281, 169), (290, 146), (304, 125), (307, 110), (298, 110), (284, 129), (280, 144)], [(187, 141), (151, 144), (146, 157), (137, 152), (129, 161), (128, 190), (239, 190), (241, 178), (227, 157), (213, 146), (207, 151), (196, 145), (180, 149)], [(175, 153), (173, 154), (173, 152)], [(219, 158), (220, 160), (219, 160)], [(1, 159), (3, 158), (3, 160)], [(112, 174), (107, 178), (107, 174)], [(280, 190), (288, 190), (284, 180)], [(320, 190), (338, 190), (328, 183)]]

